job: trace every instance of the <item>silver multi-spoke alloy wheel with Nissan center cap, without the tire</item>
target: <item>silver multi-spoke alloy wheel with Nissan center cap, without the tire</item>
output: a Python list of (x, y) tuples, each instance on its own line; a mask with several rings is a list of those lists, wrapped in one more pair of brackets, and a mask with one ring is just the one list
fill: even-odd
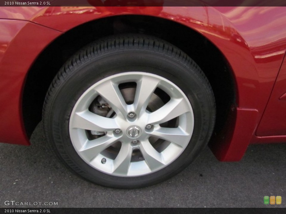
[(181, 89), (144, 72), (111, 75), (89, 87), (70, 116), (78, 155), (94, 169), (130, 177), (175, 161), (192, 136), (192, 106)]

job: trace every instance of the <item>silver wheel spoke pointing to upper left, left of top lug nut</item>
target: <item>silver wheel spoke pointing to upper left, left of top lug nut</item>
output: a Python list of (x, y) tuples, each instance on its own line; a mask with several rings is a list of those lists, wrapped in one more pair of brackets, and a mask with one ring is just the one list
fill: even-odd
[(116, 114), (127, 115), (127, 104), (118, 88), (112, 81), (106, 81), (95, 89), (108, 102)]

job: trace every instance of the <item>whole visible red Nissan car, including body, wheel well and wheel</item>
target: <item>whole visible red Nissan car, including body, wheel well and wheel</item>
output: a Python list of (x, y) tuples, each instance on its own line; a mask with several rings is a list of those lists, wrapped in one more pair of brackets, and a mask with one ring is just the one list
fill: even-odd
[[(284, 7), (2, 7), (0, 142), (115, 188), (286, 142)], [(267, 151), (265, 151), (267, 152)]]

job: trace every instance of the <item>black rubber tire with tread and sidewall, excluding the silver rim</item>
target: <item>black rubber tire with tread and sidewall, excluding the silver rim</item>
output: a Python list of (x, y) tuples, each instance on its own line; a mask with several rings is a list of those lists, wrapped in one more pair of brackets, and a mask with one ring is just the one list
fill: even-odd
[[(117, 177), (100, 172), (83, 161), (71, 143), (69, 117), (78, 98), (107, 76), (144, 71), (176, 84), (188, 97), (194, 112), (194, 130), (184, 152), (165, 168), (138, 177)], [(84, 178), (113, 188), (154, 185), (188, 166), (208, 143), (215, 124), (212, 88), (195, 62), (174, 45), (156, 37), (127, 34), (91, 43), (71, 57), (54, 78), (43, 106), (46, 138), (58, 157)]]

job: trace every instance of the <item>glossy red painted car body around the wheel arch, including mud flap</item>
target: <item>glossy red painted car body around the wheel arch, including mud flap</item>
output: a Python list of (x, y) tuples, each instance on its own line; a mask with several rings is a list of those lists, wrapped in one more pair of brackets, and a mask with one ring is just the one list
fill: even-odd
[(23, 93), (38, 56), (77, 26), (123, 15), (186, 26), (214, 44), (227, 60), (236, 99), (211, 140), (210, 148), (220, 161), (240, 160), (249, 144), (286, 142), (284, 7), (2, 7), (0, 142), (30, 144)]

